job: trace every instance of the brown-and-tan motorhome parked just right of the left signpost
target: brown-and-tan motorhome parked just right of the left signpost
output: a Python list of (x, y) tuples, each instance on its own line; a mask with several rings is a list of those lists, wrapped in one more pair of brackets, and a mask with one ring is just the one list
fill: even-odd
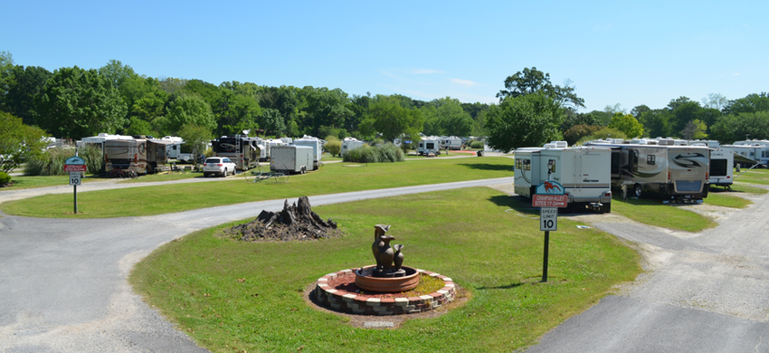
[(104, 142), (105, 171), (131, 172), (134, 175), (154, 174), (166, 169), (166, 147), (170, 141), (136, 137), (109, 139)]

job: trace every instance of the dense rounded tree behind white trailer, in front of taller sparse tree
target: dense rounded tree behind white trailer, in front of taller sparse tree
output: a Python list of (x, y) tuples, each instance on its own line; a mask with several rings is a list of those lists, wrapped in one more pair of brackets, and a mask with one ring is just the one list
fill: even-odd
[(507, 97), (489, 108), (487, 143), (503, 151), (542, 146), (562, 137), (558, 127), (564, 119), (559, 102), (544, 92)]

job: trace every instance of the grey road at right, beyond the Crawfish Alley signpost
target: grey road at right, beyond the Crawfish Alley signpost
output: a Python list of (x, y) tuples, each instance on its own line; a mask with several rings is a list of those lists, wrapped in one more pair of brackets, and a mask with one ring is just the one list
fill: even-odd
[(699, 234), (595, 223), (638, 243), (647, 272), (527, 352), (769, 352), (769, 196), (749, 198)]

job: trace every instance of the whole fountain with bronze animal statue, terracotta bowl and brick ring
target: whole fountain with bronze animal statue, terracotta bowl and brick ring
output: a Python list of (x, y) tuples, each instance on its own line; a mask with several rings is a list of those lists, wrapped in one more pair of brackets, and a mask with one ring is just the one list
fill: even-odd
[[(403, 245), (390, 242), (390, 225), (376, 224), (371, 244), (376, 264), (328, 273), (320, 277), (313, 295), (331, 310), (361, 315), (400, 315), (434, 310), (456, 295), (453, 280), (439, 273), (403, 266)], [(415, 294), (420, 276), (443, 281), (439, 291)]]

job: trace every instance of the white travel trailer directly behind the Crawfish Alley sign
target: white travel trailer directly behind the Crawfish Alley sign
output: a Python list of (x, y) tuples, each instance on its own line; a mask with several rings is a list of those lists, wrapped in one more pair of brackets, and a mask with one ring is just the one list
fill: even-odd
[(536, 186), (555, 180), (564, 186), (571, 209), (612, 212), (612, 151), (603, 147), (568, 148), (565, 141), (542, 148), (517, 148), (515, 190), (531, 198)]

